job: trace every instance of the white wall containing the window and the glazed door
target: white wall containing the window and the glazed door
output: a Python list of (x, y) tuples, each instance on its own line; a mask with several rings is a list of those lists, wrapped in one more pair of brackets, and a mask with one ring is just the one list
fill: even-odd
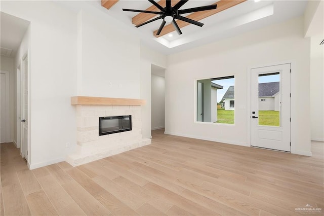
[[(250, 146), (248, 68), (292, 60), (292, 153), (311, 155), (310, 42), (303, 38), (303, 32), (303, 18), (296, 18), (168, 56), (166, 133)], [(194, 80), (232, 75), (235, 124), (194, 123)]]

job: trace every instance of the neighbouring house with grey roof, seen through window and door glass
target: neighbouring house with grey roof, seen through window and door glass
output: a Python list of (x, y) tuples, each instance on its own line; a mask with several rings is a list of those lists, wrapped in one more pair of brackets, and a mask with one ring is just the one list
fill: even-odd
[[(279, 82), (259, 83), (259, 110), (279, 111)], [(234, 110), (234, 86), (228, 87), (221, 100), (225, 110)]]

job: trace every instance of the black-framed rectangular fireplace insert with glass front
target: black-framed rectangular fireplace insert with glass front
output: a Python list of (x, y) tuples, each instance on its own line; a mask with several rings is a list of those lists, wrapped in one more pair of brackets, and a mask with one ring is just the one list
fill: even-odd
[(99, 117), (99, 136), (132, 130), (132, 116)]

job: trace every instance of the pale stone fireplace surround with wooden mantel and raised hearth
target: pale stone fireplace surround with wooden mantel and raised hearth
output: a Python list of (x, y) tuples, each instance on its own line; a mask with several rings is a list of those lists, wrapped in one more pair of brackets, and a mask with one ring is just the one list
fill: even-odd
[[(76, 152), (66, 161), (78, 166), (151, 143), (142, 138), (141, 105), (145, 100), (106, 97), (71, 97), (76, 106)], [(132, 130), (99, 136), (99, 117), (132, 115)]]

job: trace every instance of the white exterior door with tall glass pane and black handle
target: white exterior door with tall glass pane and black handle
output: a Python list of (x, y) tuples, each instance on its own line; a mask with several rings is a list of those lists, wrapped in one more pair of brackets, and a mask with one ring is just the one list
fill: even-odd
[(251, 69), (251, 146), (291, 151), (291, 64)]

